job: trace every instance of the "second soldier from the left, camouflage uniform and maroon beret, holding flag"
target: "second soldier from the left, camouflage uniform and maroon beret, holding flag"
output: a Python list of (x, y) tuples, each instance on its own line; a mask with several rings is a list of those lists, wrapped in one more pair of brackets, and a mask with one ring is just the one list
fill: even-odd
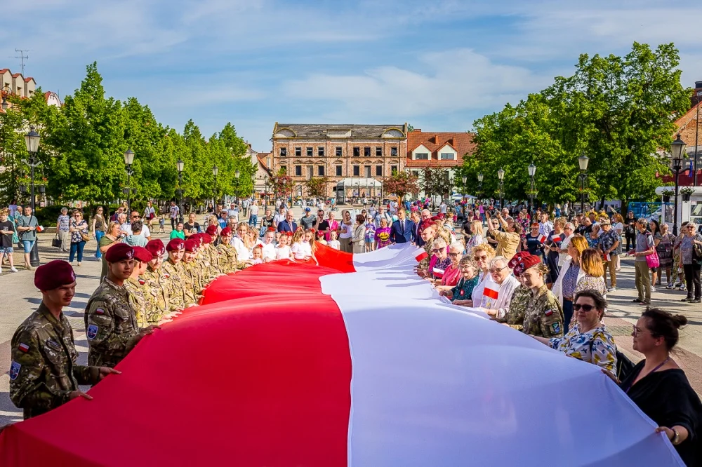
[(140, 329), (124, 281), (134, 269), (134, 250), (118, 243), (105, 254), (107, 277), (88, 300), (85, 313), (88, 365), (114, 367), (154, 326)]

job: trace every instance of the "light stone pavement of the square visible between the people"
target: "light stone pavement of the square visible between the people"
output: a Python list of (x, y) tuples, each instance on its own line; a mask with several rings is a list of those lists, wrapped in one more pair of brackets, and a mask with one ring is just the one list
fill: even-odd
[[(298, 218), (302, 214), (302, 209), (295, 208), (295, 212)], [(339, 216), (340, 210), (337, 217)], [(201, 216), (198, 222), (200, 219)], [(170, 226), (167, 226), (166, 230), (170, 231)], [(168, 239), (168, 236), (163, 234), (154, 234), (154, 236), (165, 241)], [(67, 259), (67, 253), (62, 254), (59, 250), (51, 248), (52, 234), (41, 234), (39, 238), (39, 256), (42, 262)], [(83, 312), (100, 279), (100, 262), (91, 256), (95, 254), (95, 241), (88, 242), (85, 253), (81, 267), (74, 268), (77, 275), (76, 295), (71, 306), (65, 309), (74, 330), (81, 364), (86, 363), (88, 351)], [(22, 264), (17, 252), (15, 252), (15, 264)], [(0, 276), (0, 290), (4, 292), (0, 313), (0, 426), (22, 419), (22, 411), (13, 405), (8, 395), (10, 340), (22, 320), (37, 309), (41, 302), (41, 295), (34, 288), (33, 274), (33, 271), (24, 269), (20, 269), (18, 273), (9, 273), (8, 269), (4, 268), (4, 273)], [(618, 290), (608, 297), (609, 313), (604, 320), (614, 335), (618, 348), (636, 362), (642, 356), (631, 348), (631, 329), (640, 316), (642, 307), (631, 302), (635, 297), (633, 259), (623, 259), (622, 271), (618, 275)], [(697, 393), (702, 394), (702, 306), (680, 302), (682, 297), (684, 292), (679, 290), (659, 288), (651, 295), (651, 300), (654, 306), (687, 316), (689, 325), (681, 331), (680, 344), (673, 356), (687, 373)]]

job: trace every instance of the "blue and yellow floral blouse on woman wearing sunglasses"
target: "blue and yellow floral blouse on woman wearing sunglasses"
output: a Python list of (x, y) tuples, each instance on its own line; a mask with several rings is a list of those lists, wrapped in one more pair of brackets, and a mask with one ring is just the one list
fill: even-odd
[(550, 339), (549, 344), (567, 356), (616, 372), (616, 345), (604, 325), (588, 332), (580, 332), (578, 323), (563, 337)]

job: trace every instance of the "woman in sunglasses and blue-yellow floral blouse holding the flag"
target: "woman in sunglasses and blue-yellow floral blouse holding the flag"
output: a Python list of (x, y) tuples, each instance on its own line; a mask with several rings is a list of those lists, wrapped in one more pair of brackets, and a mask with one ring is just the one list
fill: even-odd
[(573, 303), (577, 323), (566, 335), (555, 339), (532, 337), (567, 356), (592, 363), (614, 374), (616, 345), (607, 327), (602, 324), (606, 308), (607, 300), (600, 292), (583, 290), (576, 293)]

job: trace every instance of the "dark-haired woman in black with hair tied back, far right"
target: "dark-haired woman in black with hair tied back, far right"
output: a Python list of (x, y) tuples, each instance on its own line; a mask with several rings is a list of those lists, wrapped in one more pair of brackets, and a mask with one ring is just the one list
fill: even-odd
[(644, 311), (634, 325), (634, 350), (646, 357), (627, 374), (619, 387), (658, 424), (687, 466), (702, 465), (702, 402), (684, 372), (670, 356), (678, 328), (687, 318), (657, 308)]

